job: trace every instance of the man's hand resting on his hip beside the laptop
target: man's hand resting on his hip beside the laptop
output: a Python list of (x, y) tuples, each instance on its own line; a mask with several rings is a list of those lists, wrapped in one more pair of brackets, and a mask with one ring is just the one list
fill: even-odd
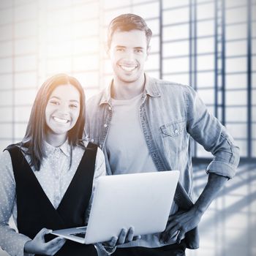
[(189, 211), (178, 211), (176, 214), (171, 215), (165, 231), (162, 233), (162, 241), (169, 241), (178, 231), (177, 243), (179, 244), (185, 233), (198, 225), (202, 215), (203, 213), (196, 211), (195, 208), (191, 208)]

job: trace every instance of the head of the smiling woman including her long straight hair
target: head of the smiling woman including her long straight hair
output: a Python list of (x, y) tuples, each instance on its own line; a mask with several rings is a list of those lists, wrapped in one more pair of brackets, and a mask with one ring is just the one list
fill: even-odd
[(83, 88), (71, 76), (54, 75), (42, 84), (21, 143), (27, 148), (27, 154), (31, 155), (31, 162), (37, 170), (40, 159), (45, 157), (43, 141), (61, 146), (68, 139), (72, 146), (83, 146), (84, 102)]

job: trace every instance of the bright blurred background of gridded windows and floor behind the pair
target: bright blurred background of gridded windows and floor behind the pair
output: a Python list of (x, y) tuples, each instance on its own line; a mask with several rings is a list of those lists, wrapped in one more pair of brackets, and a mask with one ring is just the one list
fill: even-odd
[[(0, 150), (23, 138), (50, 75), (74, 75), (87, 98), (109, 83), (106, 30), (125, 12), (153, 31), (148, 74), (194, 87), (241, 148), (237, 176), (203, 217), (200, 249), (187, 255), (256, 255), (255, 0), (0, 0)], [(193, 148), (200, 195), (211, 154)]]

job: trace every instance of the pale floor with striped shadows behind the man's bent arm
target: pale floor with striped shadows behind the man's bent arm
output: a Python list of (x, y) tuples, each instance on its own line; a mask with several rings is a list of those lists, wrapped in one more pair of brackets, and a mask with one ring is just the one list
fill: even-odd
[[(206, 184), (206, 165), (194, 166), (195, 195)], [(241, 163), (200, 222), (200, 249), (187, 256), (256, 255), (256, 163)], [(1, 251), (0, 256), (7, 253)]]

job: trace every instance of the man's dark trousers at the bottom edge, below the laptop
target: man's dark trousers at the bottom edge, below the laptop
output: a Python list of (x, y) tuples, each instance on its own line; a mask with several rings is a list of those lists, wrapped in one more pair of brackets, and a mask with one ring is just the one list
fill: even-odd
[(181, 241), (180, 244), (170, 244), (157, 248), (147, 247), (128, 247), (117, 248), (113, 256), (185, 256), (186, 244)]

